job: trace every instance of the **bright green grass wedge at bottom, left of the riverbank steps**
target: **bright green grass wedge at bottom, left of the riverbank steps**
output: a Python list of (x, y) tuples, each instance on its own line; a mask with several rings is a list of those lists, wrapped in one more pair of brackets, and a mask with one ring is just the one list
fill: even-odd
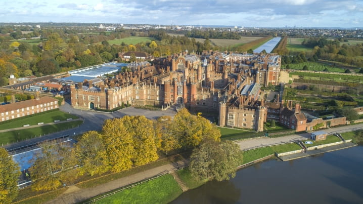
[(183, 191), (170, 174), (134, 186), (96, 203), (169, 203)]

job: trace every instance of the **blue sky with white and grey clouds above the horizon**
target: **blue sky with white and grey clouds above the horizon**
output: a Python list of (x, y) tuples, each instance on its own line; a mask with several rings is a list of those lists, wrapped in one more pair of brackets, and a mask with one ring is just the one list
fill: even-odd
[(363, 0), (1, 0), (0, 22), (363, 27)]

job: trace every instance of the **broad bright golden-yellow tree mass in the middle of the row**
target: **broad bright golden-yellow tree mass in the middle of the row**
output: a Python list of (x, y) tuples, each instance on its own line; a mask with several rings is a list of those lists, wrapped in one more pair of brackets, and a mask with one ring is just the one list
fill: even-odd
[(158, 158), (153, 124), (145, 116), (108, 119), (102, 130), (112, 171), (120, 172)]

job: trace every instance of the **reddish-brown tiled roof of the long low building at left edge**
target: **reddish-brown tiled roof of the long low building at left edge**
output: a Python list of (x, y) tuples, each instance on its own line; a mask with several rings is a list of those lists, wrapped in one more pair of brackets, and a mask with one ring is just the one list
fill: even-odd
[(30, 99), (30, 100), (26, 100), (26, 101), (20, 101), (20, 102), (17, 102), (17, 103), (10, 103), (10, 104), (6, 104), (6, 105), (1, 105), (0, 106), (0, 112), (18, 110), (18, 109), (22, 109), (22, 108), (26, 108), (26, 107), (36, 106), (36, 105), (55, 102), (55, 101), (57, 102), (57, 105), (58, 105), (58, 100), (57, 99), (51, 98), (51, 97), (48, 97), (48, 96), (41, 97), (39, 99)]

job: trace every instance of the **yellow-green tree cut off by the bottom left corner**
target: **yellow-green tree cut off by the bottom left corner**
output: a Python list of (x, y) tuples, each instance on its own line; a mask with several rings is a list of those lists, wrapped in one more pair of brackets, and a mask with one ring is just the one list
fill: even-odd
[(18, 195), (19, 166), (8, 151), (0, 148), (0, 203), (11, 203)]

